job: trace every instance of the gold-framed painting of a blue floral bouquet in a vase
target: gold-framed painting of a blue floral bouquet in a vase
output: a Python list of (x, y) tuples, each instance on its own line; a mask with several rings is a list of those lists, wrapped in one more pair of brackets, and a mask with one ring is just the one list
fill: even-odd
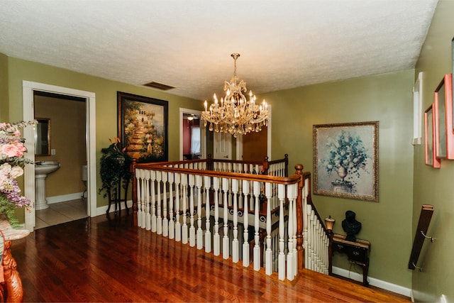
[(378, 121), (313, 131), (314, 194), (378, 202)]

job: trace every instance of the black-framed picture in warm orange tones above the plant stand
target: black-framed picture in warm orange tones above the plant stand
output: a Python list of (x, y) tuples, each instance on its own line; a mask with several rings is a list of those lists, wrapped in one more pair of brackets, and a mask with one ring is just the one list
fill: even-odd
[(138, 162), (167, 161), (167, 101), (117, 92), (118, 138)]

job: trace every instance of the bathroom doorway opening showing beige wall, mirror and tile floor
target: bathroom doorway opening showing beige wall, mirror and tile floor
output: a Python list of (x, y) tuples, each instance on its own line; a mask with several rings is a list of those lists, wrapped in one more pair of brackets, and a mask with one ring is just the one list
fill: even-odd
[(87, 217), (86, 101), (81, 97), (34, 92), (33, 108), (38, 121), (35, 163), (59, 164), (55, 172), (41, 176), (42, 185), (36, 187), (41, 193), (36, 193), (35, 229)]

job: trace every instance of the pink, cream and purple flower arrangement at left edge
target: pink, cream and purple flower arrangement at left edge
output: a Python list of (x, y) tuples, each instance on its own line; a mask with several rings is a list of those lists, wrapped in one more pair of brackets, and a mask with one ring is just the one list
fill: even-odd
[(23, 175), (26, 164), (32, 163), (23, 157), (27, 148), (20, 131), (32, 124), (35, 121), (0, 123), (0, 214), (5, 214), (14, 228), (19, 226), (14, 210), (25, 207), (29, 211), (31, 207), (30, 199), (21, 195), (16, 178)]

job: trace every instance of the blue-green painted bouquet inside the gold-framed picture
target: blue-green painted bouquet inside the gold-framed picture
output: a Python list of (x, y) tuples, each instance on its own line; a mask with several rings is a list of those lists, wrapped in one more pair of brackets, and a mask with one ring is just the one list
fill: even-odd
[(367, 172), (366, 164), (369, 156), (360, 137), (351, 136), (350, 133), (342, 131), (338, 138), (326, 143), (326, 148), (328, 148), (329, 157), (323, 161), (323, 164), (328, 175), (335, 171), (340, 177), (343, 176), (342, 182), (346, 175), (353, 182), (353, 176), (360, 177), (360, 169)]

